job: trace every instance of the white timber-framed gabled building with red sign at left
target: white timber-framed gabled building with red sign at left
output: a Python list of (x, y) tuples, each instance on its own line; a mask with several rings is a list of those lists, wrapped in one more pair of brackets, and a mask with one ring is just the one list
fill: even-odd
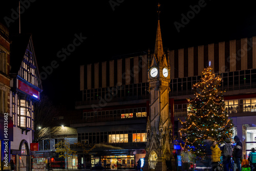
[(10, 112), (13, 120), (11, 158), (16, 170), (31, 170), (30, 143), (34, 131), (34, 103), (40, 100), (42, 86), (32, 35), (12, 37), (10, 70)]

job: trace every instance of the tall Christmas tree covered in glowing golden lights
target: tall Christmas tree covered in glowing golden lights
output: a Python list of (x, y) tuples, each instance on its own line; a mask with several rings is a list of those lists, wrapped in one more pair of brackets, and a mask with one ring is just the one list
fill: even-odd
[(181, 121), (183, 147), (188, 147), (197, 156), (206, 154), (206, 140), (221, 142), (223, 137), (232, 136), (232, 120), (225, 110), (223, 92), (218, 88), (221, 76), (211, 73), (207, 67), (200, 82), (193, 85), (195, 98), (187, 99), (188, 115)]

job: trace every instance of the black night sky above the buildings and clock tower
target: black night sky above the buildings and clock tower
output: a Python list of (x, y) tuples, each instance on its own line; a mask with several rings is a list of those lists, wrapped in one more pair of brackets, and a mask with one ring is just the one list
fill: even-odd
[[(154, 48), (158, 2), (163, 46), (169, 50), (256, 36), (253, 1), (22, 2), (21, 32), (32, 33), (39, 71), (56, 61), (44, 75), (43, 93), (70, 108), (81, 98), (80, 65)], [(17, 34), (18, 1), (1, 1), (0, 7), (0, 22)]]

